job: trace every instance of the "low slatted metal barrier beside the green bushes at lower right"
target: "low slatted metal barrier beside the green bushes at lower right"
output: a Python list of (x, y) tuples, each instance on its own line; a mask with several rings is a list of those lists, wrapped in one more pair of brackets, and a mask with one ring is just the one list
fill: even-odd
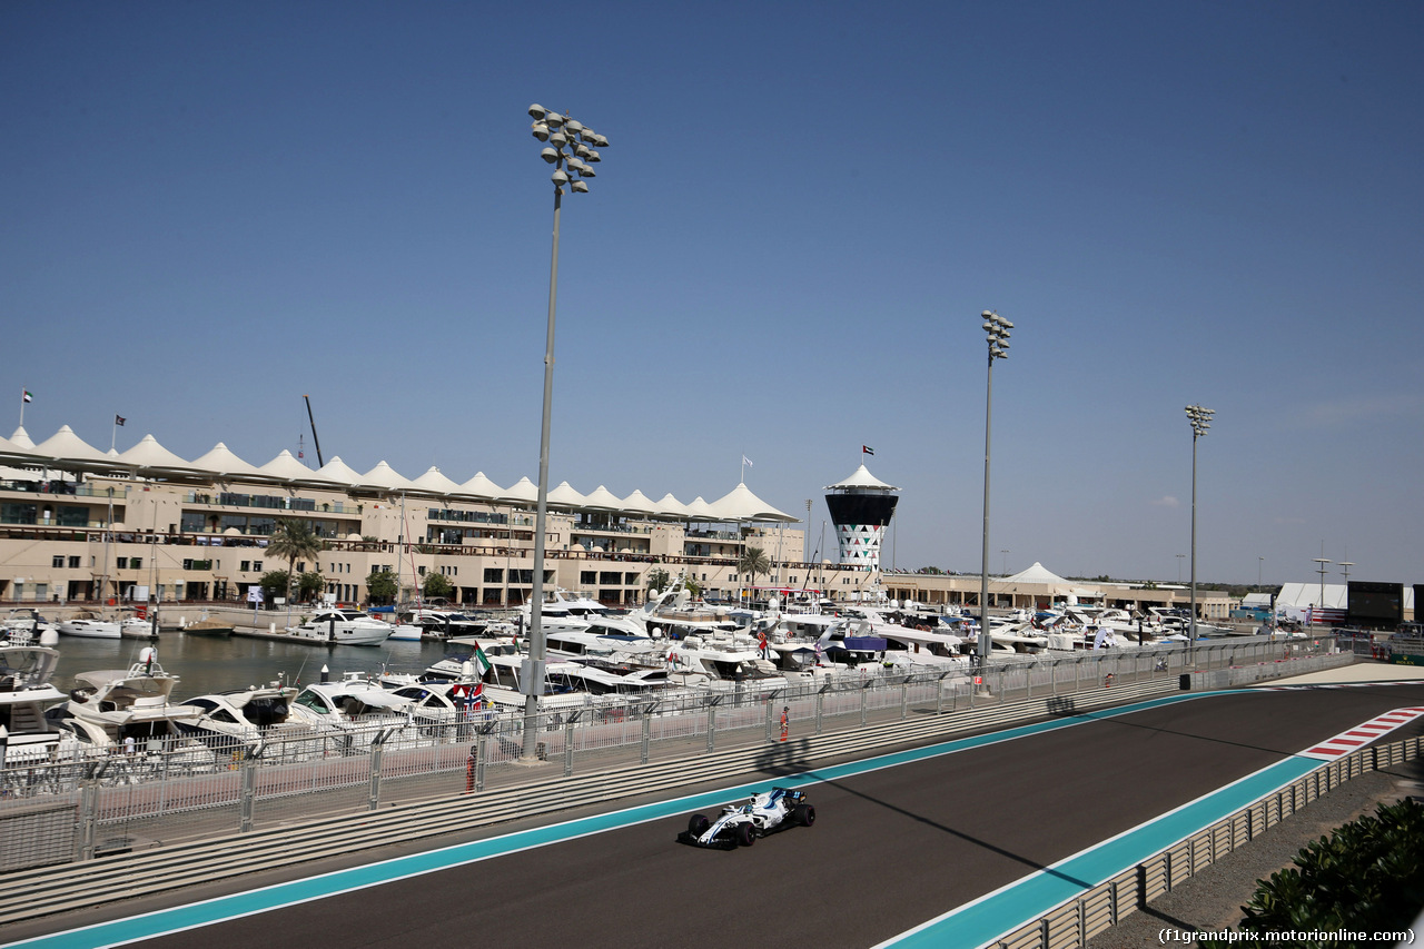
[(998, 949), (1081, 949), (1094, 936), (1172, 891), (1256, 835), (1280, 824), (1331, 788), (1420, 757), (1424, 738), (1361, 748), (1273, 791), (1209, 828), (1192, 834), (1148, 861), (1084, 891), (991, 945)]

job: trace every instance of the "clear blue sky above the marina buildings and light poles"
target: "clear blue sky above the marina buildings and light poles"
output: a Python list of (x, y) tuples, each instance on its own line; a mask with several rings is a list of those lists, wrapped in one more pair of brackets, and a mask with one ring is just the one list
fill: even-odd
[(513, 6), (0, 6), (3, 432), (534, 479), (541, 103), (551, 486), (977, 571), (997, 309), (991, 570), (1424, 581), (1424, 7)]

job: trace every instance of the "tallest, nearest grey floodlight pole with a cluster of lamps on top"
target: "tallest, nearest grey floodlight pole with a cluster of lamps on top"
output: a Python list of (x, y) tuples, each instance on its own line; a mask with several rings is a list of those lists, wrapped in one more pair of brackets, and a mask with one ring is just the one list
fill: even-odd
[(534, 590), (530, 596), (530, 657), (520, 668), (524, 690), (524, 745), (520, 758), (533, 761), (538, 735), (538, 697), (544, 691), (544, 531), (548, 516), (548, 426), (550, 405), (554, 400), (554, 302), (558, 298), (558, 211), (564, 185), (572, 192), (587, 192), (584, 178), (592, 178), (588, 162), (600, 160), (594, 150), (607, 148), (608, 140), (575, 123), (568, 115), (551, 113), (543, 105), (530, 105), (534, 117), (534, 137), (547, 141), (540, 157), (554, 165), (554, 252), (548, 269), (548, 335), (544, 343), (544, 419), (538, 442), (538, 513), (534, 517)]

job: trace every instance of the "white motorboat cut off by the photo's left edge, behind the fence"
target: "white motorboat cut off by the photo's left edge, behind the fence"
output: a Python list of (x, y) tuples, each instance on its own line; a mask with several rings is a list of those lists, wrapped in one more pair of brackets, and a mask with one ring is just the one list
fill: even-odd
[(41, 645), (0, 648), (0, 725), (9, 732), (0, 744), (0, 769), (53, 761), (80, 747), (73, 732), (44, 718), (44, 707), (66, 695), (50, 683), (60, 661), (57, 650)]

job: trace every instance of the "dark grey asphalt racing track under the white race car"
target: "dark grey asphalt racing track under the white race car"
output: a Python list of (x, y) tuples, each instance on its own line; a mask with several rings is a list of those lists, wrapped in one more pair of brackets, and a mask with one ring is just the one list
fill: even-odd
[[(1424, 684), (1229, 693), (1071, 718), (894, 767), (827, 768), (830, 779), (807, 787), (816, 826), (749, 849), (675, 844), (692, 808), (577, 839), (554, 826), (555, 842), (520, 852), (449, 866), (468, 859), (451, 848), (427, 858), (441, 869), (131, 945), (873, 946), (1040, 871), (1095, 882), (1071, 879), (1064, 861), (1265, 768), (1303, 769), (1312, 762), (1297, 752), (1314, 742), (1420, 704)], [(283, 889), (300, 896), (296, 883)], [(993, 903), (980, 909), (1000, 922)], [(104, 945), (111, 933), (44, 945)]]

